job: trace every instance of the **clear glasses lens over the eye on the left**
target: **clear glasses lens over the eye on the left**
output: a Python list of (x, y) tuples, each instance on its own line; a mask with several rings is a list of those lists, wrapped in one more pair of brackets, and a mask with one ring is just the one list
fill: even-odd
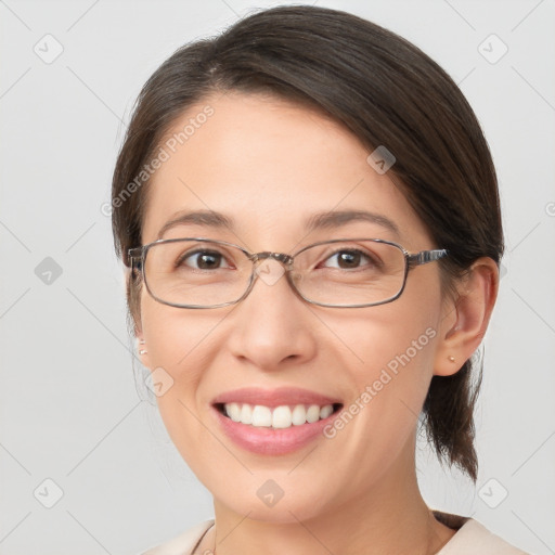
[(197, 240), (156, 243), (145, 259), (151, 294), (163, 302), (210, 307), (245, 293), (253, 264), (238, 248)]

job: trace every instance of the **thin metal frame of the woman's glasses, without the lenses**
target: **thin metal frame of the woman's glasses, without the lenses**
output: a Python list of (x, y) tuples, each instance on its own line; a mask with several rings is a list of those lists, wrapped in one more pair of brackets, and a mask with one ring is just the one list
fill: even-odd
[[(230, 247), (235, 247), (238, 250), (241, 250), (245, 255), (245, 257), (248, 258), (253, 262), (253, 271), (250, 272), (250, 279), (249, 279), (249, 282), (248, 282), (245, 293), (236, 300), (231, 300), (229, 302), (221, 302), (219, 305), (209, 305), (209, 306), (179, 305), (176, 302), (168, 302), (166, 300), (160, 299), (156, 295), (154, 295), (149, 286), (149, 282), (146, 280), (146, 272), (145, 272), (145, 267), (146, 267), (145, 261), (146, 261), (146, 256), (149, 254), (149, 250), (159, 244), (177, 243), (177, 242), (184, 242), (184, 241), (215, 243), (215, 244), (225, 245), (225, 246), (230, 246)], [(401, 253), (404, 256), (404, 274), (403, 274), (403, 283), (402, 283), (402, 286), (399, 289), (399, 292), (386, 300), (379, 300), (377, 302), (367, 302), (367, 304), (363, 304), (363, 305), (327, 305), (325, 302), (318, 302), (318, 301), (310, 300), (307, 297), (305, 297), (302, 295), (302, 293), (300, 293), (297, 289), (292, 276), (291, 276), (291, 271), (293, 270), (293, 263), (295, 261), (295, 257), (297, 257), (305, 250), (315, 247), (315, 246), (319, 246), (319, 245), (333, 244), (333, 243), (345, 243), (345, 242), (350, 242), (350, 241), (373, 241), (375, 243), (384, 243), (387, 245), (391, 245), (391, 246), (398, 248), (399, 250), (401, 250)], [(410, 270), (416, 268), (417, 266), (423, 266), (423, 264), (427, 264), (428, 262), (434, 262), (436, 260), (439, 260), (440, 258), (448, 256), (448, 254), (449, 254), (448, 250), (444, 248), (435, 248), (431, 250), (421, 250), (420, 253), (409, 253), (402, 245), (399, 245), (399, 243), (395, 243), (392, 241), (386, 241), (383, 238), (369, 238), (369, 237), (336, 238), (336, 240), (330, 240), (330, 241), (320, 241), (318, 243), (313, 243), (311, 245), (302, 247), (300, 250), (297, 250), (293, 255), (287, 255), (285, 253), (273, 253), (271, 250), (264, 250), (262, 253), (249, 253), (242, 246), (235, 245), (234, 243), (229, 243), (227, 241), (219, 241), (219, 240), (212, 240), (212, 238), (207, 238), (207, 237), (160, 238), (160, 240), (154, 241), (153, 243), (149, 243), (147, 245), (128, 249), (128, 256), (130, 259), (131, 271), (134, 272), (134, 271), (139, 270), (141, 272), (143, 283), (145, 284), (146, 291), (149, 292), (151, 297), (153, 297), (156, 301), (162, 302), (163, 305), (167, 305), (169, 307), (191, 308), (191, 309), (221, 308), (221, 307), (229, 307), (231, 305), (236, 305), (237, 302), (241, 302), (253, 291), (253, 287), (255, 285), (256, 278), (257, 278), (257, 273), (256, 273), (257, 262), (266, 260), (268, 258), (278, 260), (278, 262), (281, 262), (283, 266), (285, 266), (285, 275), (286, 275), (287, 282), (289, 283), (292, 289), (298, 297), (300, 297), (302, 300), (305, 300), (306, 302), (309, 302), (311, 305), (317, 305), (319, 307), (327, 307), (327, 308), (366, 308), (366, 307), (375, 307), (378, 305), (386, 305), (388, 302), (392, 302), (393, 300), (398, 299), (401, 296), (401, 294), (403, 293), (404, 287), (406, 285), (406, 278), (409, 275)]]

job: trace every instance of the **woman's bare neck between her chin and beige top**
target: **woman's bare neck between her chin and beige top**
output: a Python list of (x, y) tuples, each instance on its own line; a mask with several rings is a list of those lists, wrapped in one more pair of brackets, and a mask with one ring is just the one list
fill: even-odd
[(431, 555), (454, 534), (435, 519), (421, 495), (414, 439), (376, 482), (317, 517), (302, 521), (292, 518), (289, 522), (261, 521), (244, 517), (218, 500), (214, 506), (216, 526), (201, 547), (210, 548), (216, 555)]

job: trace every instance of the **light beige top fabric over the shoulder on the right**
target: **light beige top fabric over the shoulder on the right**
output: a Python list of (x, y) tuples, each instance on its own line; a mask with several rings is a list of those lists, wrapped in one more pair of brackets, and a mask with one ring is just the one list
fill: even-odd
[(437, 555), (528, 555), (505, 540), (490, 532), (474, 518), (465, 519), (463, 526)]

